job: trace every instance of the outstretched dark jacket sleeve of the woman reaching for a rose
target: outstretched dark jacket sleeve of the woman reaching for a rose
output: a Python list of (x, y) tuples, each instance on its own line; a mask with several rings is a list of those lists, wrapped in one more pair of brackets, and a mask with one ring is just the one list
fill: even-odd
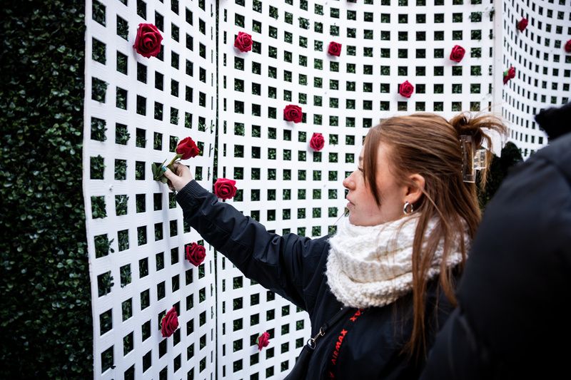
[(310, 312), (323, 280), (327, 237), (270, 233), (192, 180), (176, 195), (184, 219), (246, 277)]

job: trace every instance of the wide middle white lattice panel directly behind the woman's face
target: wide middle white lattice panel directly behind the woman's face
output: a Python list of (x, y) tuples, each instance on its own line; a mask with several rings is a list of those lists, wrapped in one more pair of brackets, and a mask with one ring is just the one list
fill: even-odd
[[(430, 3), (221, 2), (218, 176), (238, 181), (231, 201), (238, 210), (278, 234), (325, 235), (343, 212), (341, 181), (380, 118), (413, 111), (450, 118), (490, 106), (491, 2)], [(252, 35), (252, 51), (234, 48), (239, 31)], [(339, 57), (328, 55), (330, 41), (343, 44)], [(455, 44), (467, 51), (461, 63), (448, 59)], [(405, 80), (415, 86), (408, 100), (398, 94)], [(283, 120), (288, 104), (302, 107), (302, 123)], [(320, 153), (308, 146), (314, 132), (325, 136)], [(266, 299), (221, 256), (218, 274), (218, 289), (225, 288), (218, 375), (283, 378), (308, 338), (308, 319), (273, 294)], [(253, 342), (266, 330), (271, 346), (258, 354)]]

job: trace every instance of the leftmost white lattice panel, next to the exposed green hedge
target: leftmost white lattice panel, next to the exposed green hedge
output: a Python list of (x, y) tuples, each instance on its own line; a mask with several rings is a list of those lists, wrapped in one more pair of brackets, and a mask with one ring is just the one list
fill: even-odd
[[(213, 379), (216, 324), (213, 250), (195, 268), (183, 223), (152, 163), (173, 158), (176, 139), (198, 141), (193, 158), (211, 181), (216, 121), (215, 2), (86, 2), (84, 195), (97, 379)], [(139, 23), (163, 36), (157, 58), (134, 51)], [(106, 249), (110, 242), (111, 250)], [(163, 339), (161, 316), (180, 328)]]

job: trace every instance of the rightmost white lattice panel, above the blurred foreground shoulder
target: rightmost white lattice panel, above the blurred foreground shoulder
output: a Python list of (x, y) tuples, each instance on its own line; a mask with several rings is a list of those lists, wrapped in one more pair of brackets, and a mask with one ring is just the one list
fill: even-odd
[[(515, 78), (503, 86), (502, 115), (509, 140), (528, 158), (547, 144), (534, 115), (570, 99), (571, 54), (564, 46), (571, 39), (571, 1), (511, 0), (502, 6), (502, 66), (516, 68)], [(529, 21), (523, 32), (516, 29), (522, 17)]]

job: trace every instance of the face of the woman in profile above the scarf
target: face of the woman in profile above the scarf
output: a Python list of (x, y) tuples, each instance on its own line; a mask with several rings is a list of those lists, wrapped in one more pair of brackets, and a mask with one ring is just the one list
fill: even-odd
[(380, 143), (377, 150), (376, 186), (380, 193), (380, 206), (375, 202), (370, 185), (365, 185), (363, 177), (363, 150), (359, 155), (357, 170), (343, 180), (343, 186), (349, 190), (346, 199), (349, 201), (349, 221), (353, 225), (380, 225), (403, 216), (403, 205), (407, 195), (405, 185), (397, 185), (397, 181), (389, 170), (388, 145)]

